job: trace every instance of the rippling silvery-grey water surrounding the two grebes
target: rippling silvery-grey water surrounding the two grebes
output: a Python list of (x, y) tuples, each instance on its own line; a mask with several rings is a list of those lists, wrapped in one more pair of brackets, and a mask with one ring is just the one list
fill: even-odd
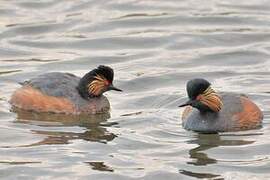
[[(1, 0), (0, 178), (270, 179), (270, 3), (267, 0)], [(10, 112), (18, 82), (115, 69), (125, 92), (110, 114)], [(185, 83), (248, 94), (258, 130), (181, 127)]]

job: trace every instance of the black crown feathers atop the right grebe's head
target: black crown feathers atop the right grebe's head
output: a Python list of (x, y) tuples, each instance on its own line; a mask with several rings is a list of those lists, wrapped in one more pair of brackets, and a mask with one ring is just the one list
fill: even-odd
[(211, 84), (205, 79), (192, 79), (187, 83), (187, 93), (189, 99), (196, 99), (199, 94), (202, 94)]

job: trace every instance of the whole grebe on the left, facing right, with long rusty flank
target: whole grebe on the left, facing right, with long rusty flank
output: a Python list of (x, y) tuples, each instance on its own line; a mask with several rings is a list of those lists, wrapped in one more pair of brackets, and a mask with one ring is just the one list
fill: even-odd
[(110, 109), (102, 94), (113, 86), (113, 69), (100, 65), (82, 78), (70, 73), (52, 72), (24, 82), (11, 96), (15, 108), (36, 112), (97, 114)]

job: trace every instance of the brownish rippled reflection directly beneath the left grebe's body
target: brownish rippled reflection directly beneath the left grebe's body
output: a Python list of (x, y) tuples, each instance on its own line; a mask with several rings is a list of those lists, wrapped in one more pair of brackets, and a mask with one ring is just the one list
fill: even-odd
[[(97, 115), (65, 115), (54, 113), (36, 113), (31, 111), (24, 111), (15, 109), (17, 114), (17, 121), (15, 123), (34, 124), (41, 127), (83, 127), (84, 132), (67, 132), (57, 130), (32, 130), (33, 133), (45, 135), (46, 138), (40, 142), (28, 145), (38, 146), (44, 144), (68, 144), (71, 140), (82, 139), (85, 141), (97, 141), (107, 143), (113, 140), (116, 135), (108, 132), (106, 124), (110, 114), (97, 114)], [(107, 124), (110, 126), (110, 124)]]

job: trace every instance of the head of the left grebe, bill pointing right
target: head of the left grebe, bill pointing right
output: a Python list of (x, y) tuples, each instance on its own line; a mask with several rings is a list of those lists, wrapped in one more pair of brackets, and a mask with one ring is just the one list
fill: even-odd
[(81, 78), (77, 89), (85, 99), (101, 96), (104, 92), (110, 90), (122, 91), (114, 87), (113, 77), (112, 68), (100, 65)]

